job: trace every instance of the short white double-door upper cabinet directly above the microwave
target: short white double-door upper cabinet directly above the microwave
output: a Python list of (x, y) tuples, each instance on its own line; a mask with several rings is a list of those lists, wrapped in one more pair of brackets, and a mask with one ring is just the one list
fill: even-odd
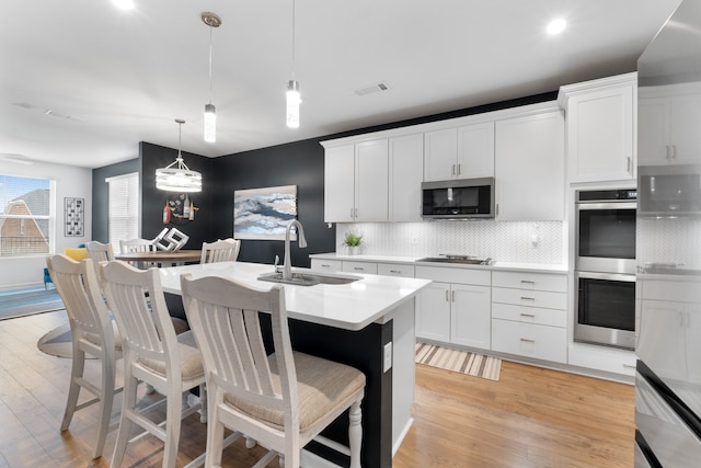
[(494, 175), (494, 122), (426, 132), (424, 181)]

